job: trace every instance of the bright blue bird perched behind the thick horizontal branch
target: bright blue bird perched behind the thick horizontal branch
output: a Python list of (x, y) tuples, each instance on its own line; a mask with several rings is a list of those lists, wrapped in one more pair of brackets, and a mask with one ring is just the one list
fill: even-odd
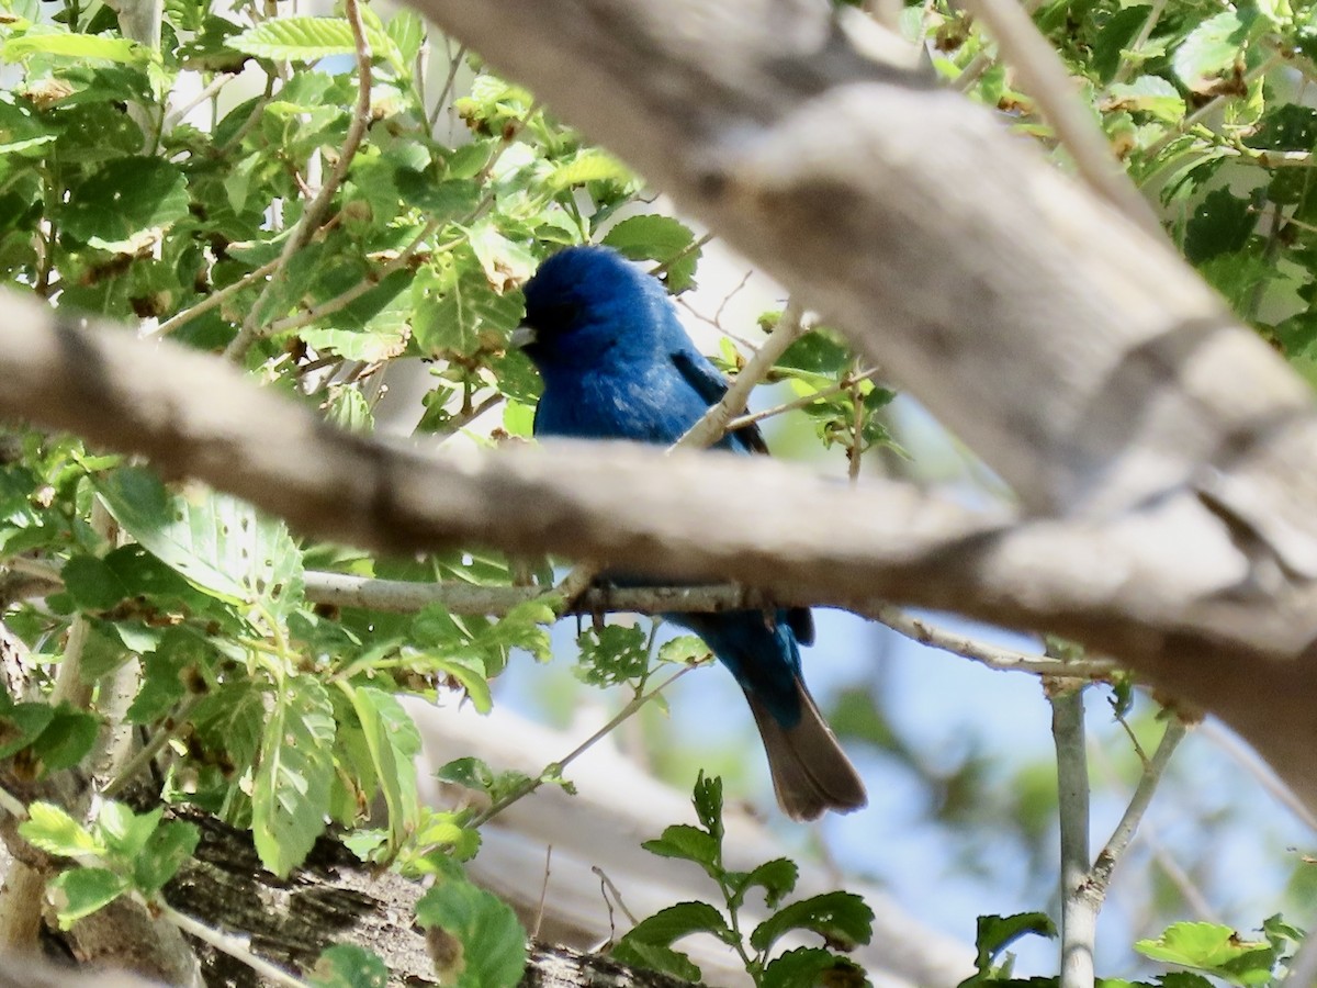
[[(524, 294), (514, 341), (544, 379), (536, 436), (670, 445), (727, 391), (662, 285), (608, 248), (561, 250)], [(718, 448), (768, 452), (755, 427), (723, 436)], [(814, 642), (809, 609), (664, 617), (699, 635), (745, 692), (789, 817), (865, 805), (864, 784), (801, 678), (798, 645)]]

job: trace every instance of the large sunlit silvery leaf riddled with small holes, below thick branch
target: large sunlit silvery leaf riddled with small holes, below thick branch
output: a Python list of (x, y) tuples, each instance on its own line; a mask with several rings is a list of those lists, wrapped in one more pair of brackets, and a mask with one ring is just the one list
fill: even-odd
[(302, 553), (278, 519), (227, 494), (171, 495), (148, 470), (96, 482), (120, 527), (199, 590), (274, 618), (302, 599)]

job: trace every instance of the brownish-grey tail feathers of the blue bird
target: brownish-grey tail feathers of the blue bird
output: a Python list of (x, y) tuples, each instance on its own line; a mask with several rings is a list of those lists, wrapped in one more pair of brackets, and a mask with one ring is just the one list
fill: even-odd
[(795, 678), (795, 688), (799, 690), (801, 719), (794, 727), (782, 727), (753, 693), (745, 693), (764, 739), (778, 805), (792, 819), (815, 819), (824, 810), (851, 813), (860, 809), (869, 797), (859, 772), (842, 751), (836, 735), (799, 677)]

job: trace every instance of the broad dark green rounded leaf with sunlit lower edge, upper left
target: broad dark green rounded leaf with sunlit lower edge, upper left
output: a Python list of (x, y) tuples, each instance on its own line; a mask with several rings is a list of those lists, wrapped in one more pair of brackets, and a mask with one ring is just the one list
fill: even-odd
[(151, 231), (188, 215), (187, 179), (163, 158), (116, 158), (68, 190), (63, 232), (116, 253), (137, 253)]

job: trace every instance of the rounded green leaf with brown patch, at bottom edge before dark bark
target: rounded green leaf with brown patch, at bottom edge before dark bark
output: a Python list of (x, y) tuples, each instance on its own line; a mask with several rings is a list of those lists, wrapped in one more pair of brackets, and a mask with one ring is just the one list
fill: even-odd
[(457, 988), (514, 988), (525, 971), (525, 930), (497, 896), (461, 879), (448, 879), (416, 902), (428, 931), (435, 971)]

